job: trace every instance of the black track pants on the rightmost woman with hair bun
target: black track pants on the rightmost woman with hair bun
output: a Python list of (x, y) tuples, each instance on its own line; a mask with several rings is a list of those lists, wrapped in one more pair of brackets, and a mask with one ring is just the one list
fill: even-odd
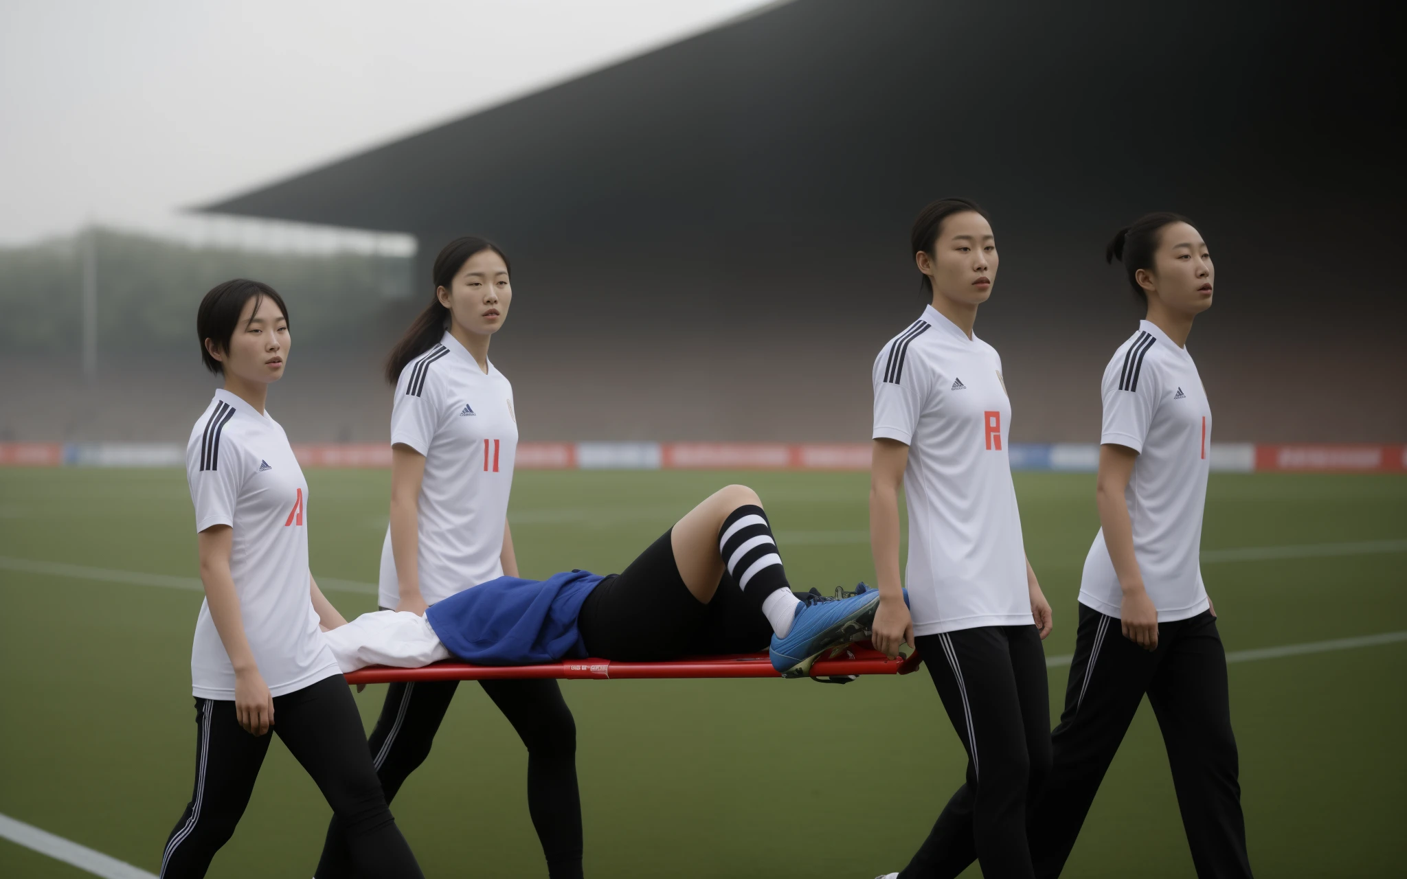
[[(1192, 864), (1202, 879), (1249, 876), (1227, 660), (1210, 612), (1158, 626), (1150, 653), (1119, 620), (1079, 606), (1065, 712), (1031, 819), (1036, 873), (1058, 876), (1144, 693), (1158, 716)], [(1137, 871), (1134, 871), (1137, 872)]]

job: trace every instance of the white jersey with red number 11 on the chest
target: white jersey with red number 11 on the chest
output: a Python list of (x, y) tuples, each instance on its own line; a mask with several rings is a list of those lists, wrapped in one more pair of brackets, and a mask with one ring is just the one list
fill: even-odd
[[(391, 443), (425, 456), (416, 563), (425, 603), (502, 577), (504, 522), (518, 450), (514, 385), (491, 361), (484, 374), (469, 349), (446, 332), (401, 370)], [(387, 526), (380, 602), (394, 610), (400, 601)]]

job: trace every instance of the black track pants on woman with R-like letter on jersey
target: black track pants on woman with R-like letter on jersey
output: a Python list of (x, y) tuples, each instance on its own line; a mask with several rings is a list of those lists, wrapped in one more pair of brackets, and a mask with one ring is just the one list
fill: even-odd
[(1036, 626), (983, 626), (917, 640), (968, 752), (967, 782), (944, 806), (900, 879), (1027, 879), (1027, 810), (1050, 768), (1050, 691)]

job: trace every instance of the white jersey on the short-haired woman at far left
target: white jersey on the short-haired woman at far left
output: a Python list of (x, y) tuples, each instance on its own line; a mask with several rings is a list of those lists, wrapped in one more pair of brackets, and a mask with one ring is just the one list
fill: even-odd
[[(267, 413), (215, 391), (186, 446), (196, 532), (234, 529), (229, 574), (245, 637), (274, 696), (342, 674), (318, 629), (308, 582), (308, 482), (288, 437)], [(235, 669), (210, 602), (201, 602), (190, 651), (191, 691), (235, 698)]]

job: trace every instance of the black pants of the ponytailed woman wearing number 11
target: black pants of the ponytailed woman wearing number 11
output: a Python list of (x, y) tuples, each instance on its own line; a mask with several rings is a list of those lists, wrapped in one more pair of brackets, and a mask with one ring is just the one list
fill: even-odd
[[(528, 813), (552, 879), (581, 876), (581, 797), (577, 793), (577, 726), (556, 681), (480, 681), (528, 745)], [(459, 681), (391, 684), (371, 733), (376, 772), (390, 802), (429, 757)], [(363, 745), (364, 747), (364, 745)], [(333, 816), (318, 879), (356, 876), (340, 820)]]

